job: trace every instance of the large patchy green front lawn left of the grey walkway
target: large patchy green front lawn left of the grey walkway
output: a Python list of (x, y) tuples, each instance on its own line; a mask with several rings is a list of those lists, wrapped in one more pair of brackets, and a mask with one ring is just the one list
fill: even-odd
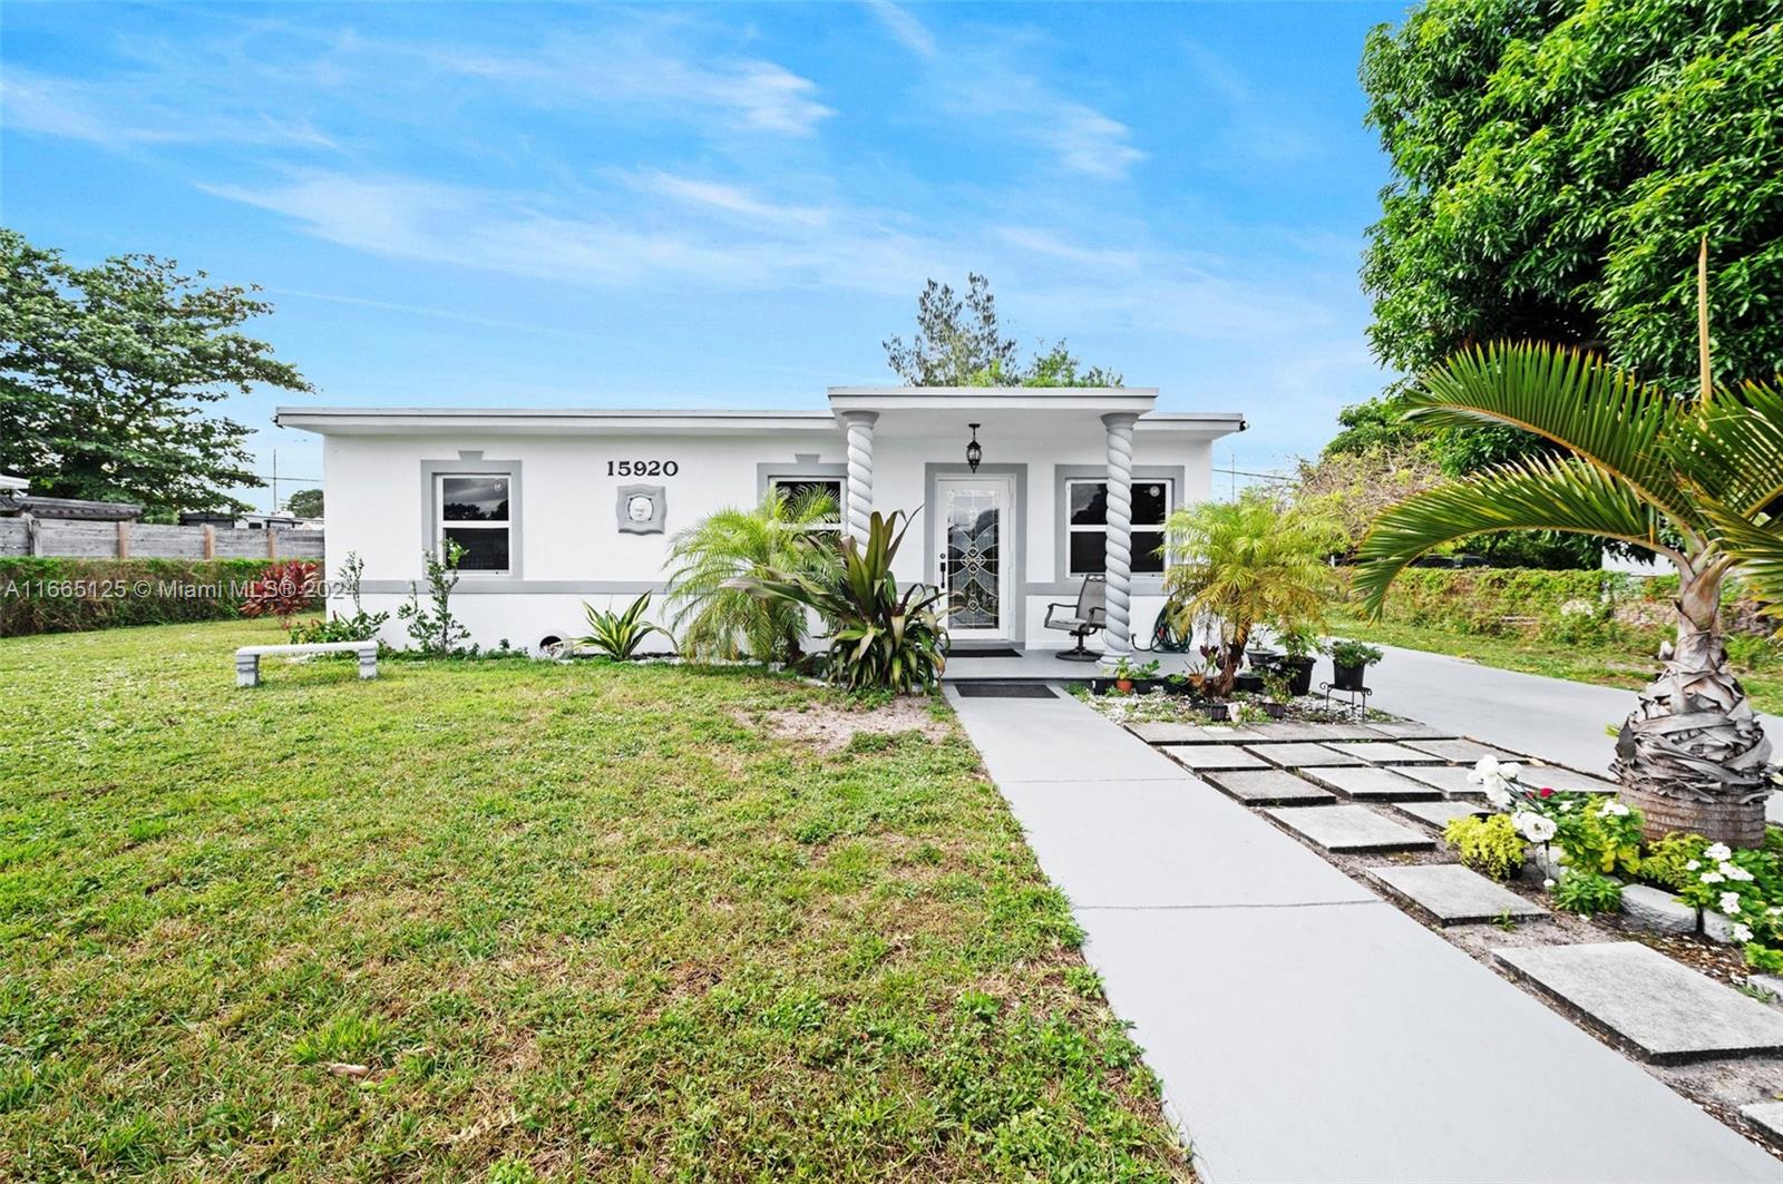
[(269, 640), (0, 642), (0, 1179), (1187, 1175), (945, 708)]

